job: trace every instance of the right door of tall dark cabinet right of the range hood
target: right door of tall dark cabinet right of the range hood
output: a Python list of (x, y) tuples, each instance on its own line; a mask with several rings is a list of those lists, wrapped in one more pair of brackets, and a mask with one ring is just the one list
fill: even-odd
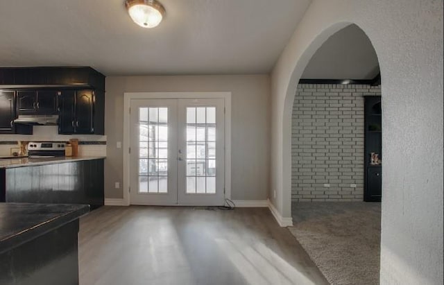
[(94, 91), (78, 90), (76, 93), (76, 134), (94, 132)]

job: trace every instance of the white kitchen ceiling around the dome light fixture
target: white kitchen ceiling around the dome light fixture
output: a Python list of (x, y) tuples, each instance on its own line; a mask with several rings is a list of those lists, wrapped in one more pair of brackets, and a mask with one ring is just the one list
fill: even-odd
[(160, 0), (153, 29), (123, 0), (0, 1), (0, 67), (91, 66), (110, 75), (268, 73), (310, 0)]

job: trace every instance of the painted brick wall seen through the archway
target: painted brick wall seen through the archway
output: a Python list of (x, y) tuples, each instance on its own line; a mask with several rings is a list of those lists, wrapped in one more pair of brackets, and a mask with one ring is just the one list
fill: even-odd
[(293, 201), (364, 199), (364, 96), (380, 95), (380, 86), (298, 85), (291, 127)]

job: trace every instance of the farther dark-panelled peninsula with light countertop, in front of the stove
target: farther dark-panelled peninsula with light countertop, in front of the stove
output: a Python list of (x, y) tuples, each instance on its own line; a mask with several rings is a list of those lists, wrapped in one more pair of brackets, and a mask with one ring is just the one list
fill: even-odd
[(0, 159), (0, 202), (103, 205), (105, 157)]

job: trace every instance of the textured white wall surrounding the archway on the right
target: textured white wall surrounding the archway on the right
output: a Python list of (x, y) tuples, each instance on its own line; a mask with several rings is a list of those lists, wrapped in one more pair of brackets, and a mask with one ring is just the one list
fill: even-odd
[(368, 35), (382, 75), (381, 284), (442, 284), (443, 1), (311, 3), (271, 78), (273, 205), (291, 215), (298, 80), (316, 49), (350, 23)]

